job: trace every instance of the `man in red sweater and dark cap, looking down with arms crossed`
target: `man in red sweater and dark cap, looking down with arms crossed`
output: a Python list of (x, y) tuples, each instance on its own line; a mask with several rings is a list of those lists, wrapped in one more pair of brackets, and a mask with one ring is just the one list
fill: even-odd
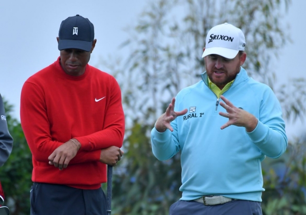
[(124, 113), (115, 78), (89, 66), (94, 26), (62, 21), (60, 57), (23, 85), (20, 119), (33, 155), (31, 215), (106, 215), (101, 183), (123, 151)]

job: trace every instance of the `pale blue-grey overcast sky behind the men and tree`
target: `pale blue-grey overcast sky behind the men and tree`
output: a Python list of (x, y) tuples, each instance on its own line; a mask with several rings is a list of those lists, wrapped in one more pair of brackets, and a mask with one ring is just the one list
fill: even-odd
[[(290, 25), (293, 41), (280, 52), (275, 63), (278, 82), (291, 77), (306, 78), (304, 35), (306, 30), (306, 0), (292, 0), (284, 24)], [(127, 39), (123, 31), (136, 23), (149, 0), (1, 0), (0, 3), (0, 93), (14, 105), (18, 120), (20, 92), (23, 83), (40, 69), (49, 66), (59, 56), (56, 36), (62, 20), (79, 14), (95, 26), (96, 48), (90, 63), (98, 65), (99, 58), (122, 56), (119, 45)], [(102, 66), (99, 67), (104, 70)], [(109, 72), (109, 71), (106, 71)], [(301, 122), (288, 124), (289, 136), (301, 133)]]

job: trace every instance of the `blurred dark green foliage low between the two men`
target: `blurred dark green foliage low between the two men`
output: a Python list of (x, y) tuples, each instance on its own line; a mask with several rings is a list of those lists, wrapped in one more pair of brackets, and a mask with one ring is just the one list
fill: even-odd
[(156, 160), (146, 133), (150, 128), (135, 124), (125, 140), (125, 162), (113, 181), (115, 214), (167, 214), (170, 203), (181, 195), (180, 156), (165, 162)]

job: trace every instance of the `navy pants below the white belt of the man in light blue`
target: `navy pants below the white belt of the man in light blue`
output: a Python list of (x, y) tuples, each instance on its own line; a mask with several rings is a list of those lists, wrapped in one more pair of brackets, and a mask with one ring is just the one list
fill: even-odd
[(262, 215), (260, 202), (232, 200), (218, 205), (179, 200), (170, 206), (169, 215)]

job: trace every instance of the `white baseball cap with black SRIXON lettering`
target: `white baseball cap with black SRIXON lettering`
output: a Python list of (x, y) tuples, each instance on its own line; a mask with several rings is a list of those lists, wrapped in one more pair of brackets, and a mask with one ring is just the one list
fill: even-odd
[(218, 54), (233, 59), (239, 50), (244, 50), (245, 37), (234, 25), (224, 23), (209, 30), (206, 36), (206, 46), (202, 57)]

